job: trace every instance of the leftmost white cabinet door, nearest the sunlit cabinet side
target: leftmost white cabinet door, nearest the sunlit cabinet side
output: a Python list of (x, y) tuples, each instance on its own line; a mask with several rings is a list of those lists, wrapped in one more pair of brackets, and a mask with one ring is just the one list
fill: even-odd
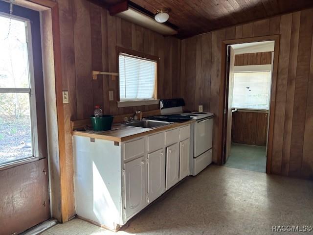
[(128, 219), (142, 210), (146, 202), (146, 161), (144, 156), (124, 164), (125, 169), (125, 207)]

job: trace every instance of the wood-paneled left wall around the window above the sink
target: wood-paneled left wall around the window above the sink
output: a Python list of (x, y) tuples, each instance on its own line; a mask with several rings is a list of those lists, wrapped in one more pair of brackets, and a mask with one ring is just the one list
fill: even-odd
[[(129, 114), (150, 111), (158, 105), (117, 108), (117, 79), (109, 76), (92, 80), (91, 71), (116, 72), (116, 46), (130, 48), (160, 58), (158, 97), (179, 97), (180, 40), (163, 37), (151, 30), (117, 17), (87, 0), (57, 0), (59, 3), (63, 90), (69, 104), (64, 104), (66, 122), (66, 172), (68, 190), (73, 192), (73, 157), (70, 120), (89, 118), (94, 105), (105, 114)], [(109, 101), (109, 90), (114, 101)], [(68, 214), (74, 215), (74, 195), (69, 193)]]

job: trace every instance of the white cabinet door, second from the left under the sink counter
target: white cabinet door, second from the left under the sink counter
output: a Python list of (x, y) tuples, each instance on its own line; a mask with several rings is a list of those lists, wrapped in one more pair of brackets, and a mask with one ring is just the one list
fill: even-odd
[(148, 154), (148, 202), (165, 191), (165, 153), (163, 149)]

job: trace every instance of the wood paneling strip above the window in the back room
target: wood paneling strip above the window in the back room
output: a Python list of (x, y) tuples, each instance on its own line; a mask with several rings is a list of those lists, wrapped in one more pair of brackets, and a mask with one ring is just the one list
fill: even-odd
[(257, 52), (235, 55), (235, 66), (243, 65), (270, 65), (272, 63), (272, 52)]

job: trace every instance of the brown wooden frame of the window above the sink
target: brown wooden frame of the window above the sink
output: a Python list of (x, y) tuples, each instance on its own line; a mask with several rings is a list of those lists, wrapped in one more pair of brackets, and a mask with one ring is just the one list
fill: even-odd
[(117, 71), (119, 72), (119, 55), (120, 54), (128, 54), (134, 57), (140, 57), (147, 60), (156, 61), (156, 85), (155, 85), (155, 92), (154, 92), (154, 99), (134, 99), (134, 100), (121, 100), (120, 99), (120, 87), (119, 87), (119, 76), (117, 78), (117, 107), (130, 107), (130, 106), (140, 106), (140, 105), (152, 105), (158, 104), (158, 81), (159, 81), (159, 60), (160, 58), (155, 55), (146, 54), (140, 51), (124, 48), (124, 47), (116, 47), (116, 63), (117, 63)]

